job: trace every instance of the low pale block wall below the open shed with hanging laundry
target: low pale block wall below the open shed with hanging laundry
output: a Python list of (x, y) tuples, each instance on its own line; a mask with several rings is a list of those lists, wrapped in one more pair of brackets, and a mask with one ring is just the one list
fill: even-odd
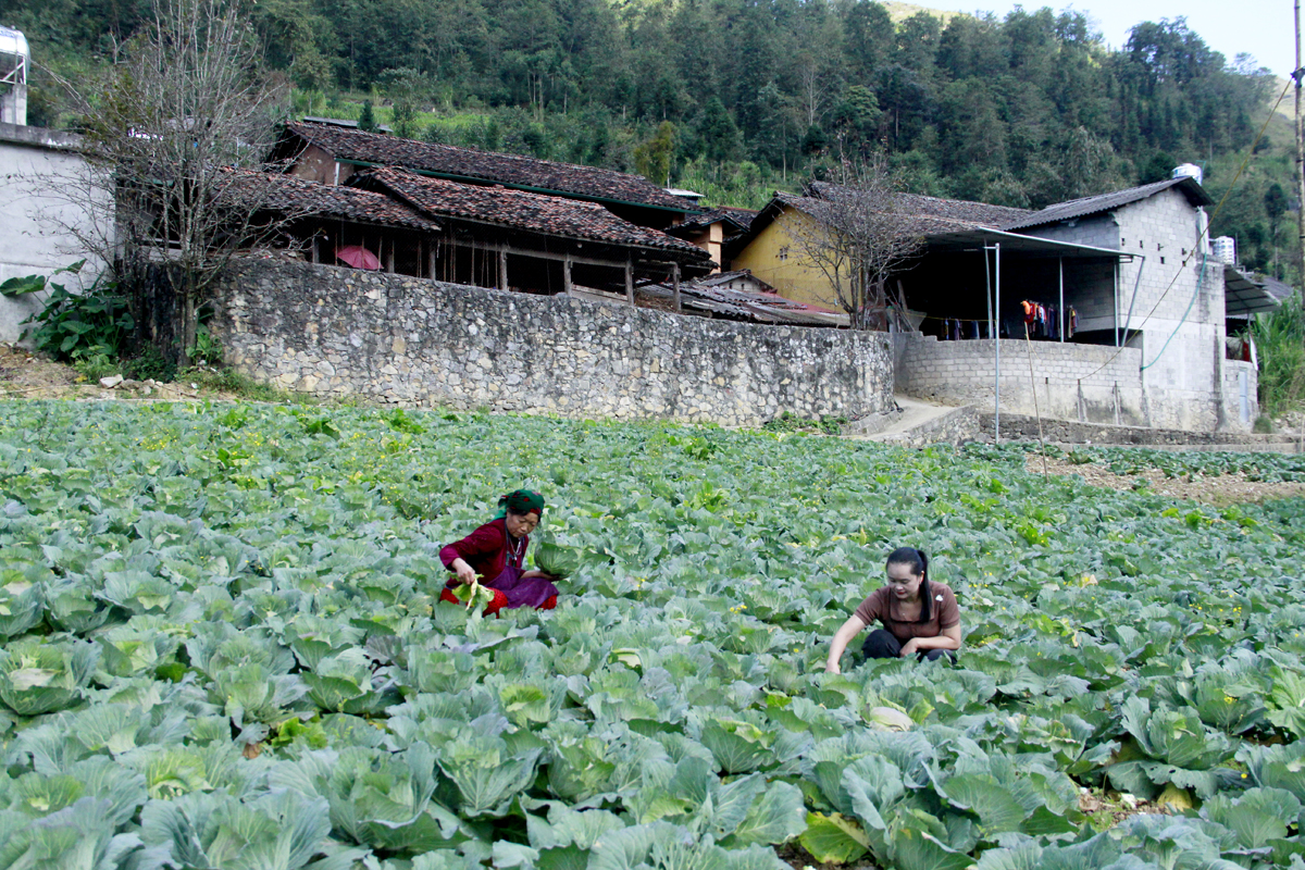
[[(898, 391), (944, 404), (993, 407), (992, 339), (940, 342), (932, 335), (899, 333), (894, 335), (894, 346)], [(1002, 339), (1001, 408), (1067, 420), (1146, 425), (1139, 357), (1141, 351), (1131, 347)]]

